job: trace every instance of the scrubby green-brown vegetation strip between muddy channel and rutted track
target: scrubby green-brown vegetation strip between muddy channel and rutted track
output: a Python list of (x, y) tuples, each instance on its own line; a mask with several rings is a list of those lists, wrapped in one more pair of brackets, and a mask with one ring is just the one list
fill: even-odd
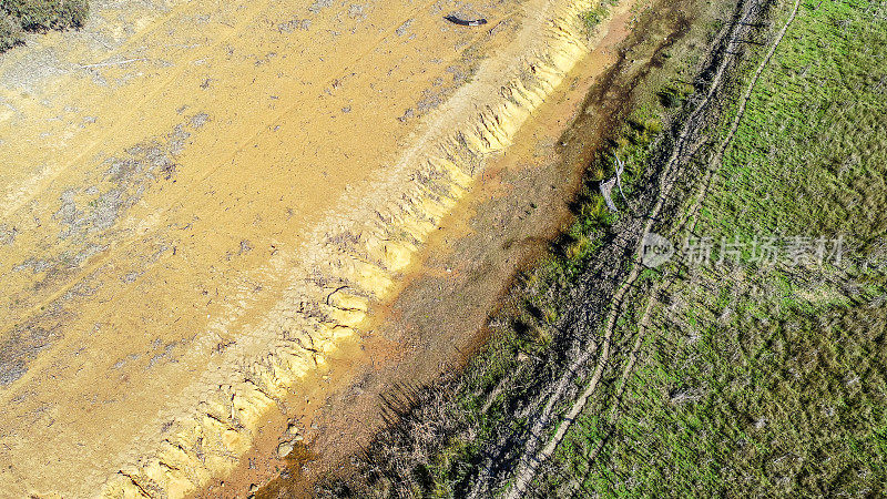
[[(720, 8), (723, 6), (657, 2), (654, 11), (643, 17), (632, 42), (621, 48), (619, 63), (603, 79), (605, 84), (598, 95), (615, 122), (624, 124), (626, 114), (641, 104), (646, 104), (646, 111), (670, 112), (671, 106), (656, 96), (675, 83), (673, 79), (692, 80), (696, 74), (701, 52), (711, 42), (705, 31), (706, 18), (720, 16)], [(622, 102), (614, 102), (618, 100)], [(530, 448), (539, 441), (531, 432), (536, 430), (533, 425), (540, 420), (562, 421), (560, 411), (565, 409), (558, 397), (561, 391), (577, 390), (569, 376), (590, 374), (581, 365), (584, 370), (579, 371), (573, 361), (589, 355), (594, 358), (593, 342), (601, 342), (585, 324), (605, 316), (605, 307), (624, 277), (622, 273), (628, 272), (619, 264), (631, 257), (633, 243), (626, 241), (643, 234), (643, 224), (635, 223), (635, 218), (650, 212), (661, 192), (650, 180), (661, 175), (661, 165), (644, 171), (636, 164), (639, 155), (648, 154), (639, 151), (650, 146), (648, 125), (642, 123), (646, 115), (632, 113), (631, 118), (631, 126), (624, 124), (625, 130), (613, 132), (618, 134), (612, 144), (595, 151), (599, 159), (590, 171), (592, 179), (603, 175), (605, 161), (614, 155), (630, 165), (623, 177), (628, 207), (622, 198), (616, 200), (621, 211), (618, 222), (616, 216), (603, 212), (598, 183), (591, 183), (584, 193), (589, 197), (577, 202), (578, 221), (554, 245), (555, 255), (516, 286), (513, 310), (489, 320), (489, 328), (495, 332), (491, 345), (452, 381), (406, 387), (392, 404), (390, 428), (367, 446), (367, 452), (355, 457), (357, 470), (353, 476), (346, 472), (334, 477), (334, 481), (325, 483), (325, 492), (363, 497), (442, 490), (460, 497), (489, 497), (514, 483), (512, 471), (524, 446)], [(601, 228), (609, 224), (616, 228)], [(581, 279), (581, 288), (575, 279)], [(567, 308), (573, 301), (581, 306)], [(564, 308), (572, 315), (560, 315)], [(559, 327), (555, 320), (563, 326)], [(563, 373), (567, 380), (560, 381)], [(528, 460), (534, 462), (531, 459)], [(551, 472), (562, 478), (569, 471)], [(341, 481), (335, 481), (337, 478)], [(551, 491), (538, 493), (561, 496)]]

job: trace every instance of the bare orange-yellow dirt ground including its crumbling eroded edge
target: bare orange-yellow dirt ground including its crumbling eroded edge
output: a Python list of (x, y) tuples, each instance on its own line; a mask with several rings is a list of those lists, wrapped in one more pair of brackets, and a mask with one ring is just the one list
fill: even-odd
[[(290, 422), (349, 439), (299, 421), (365, 366), (452, 361), (565, 213), (557, 140), (624, 34), (589, 7), (96, 2), (0, 57), (0, 490), (245, 495), (211, 487), (272, 477)], [(427, 279), (482, 298), (417, 339)]]

